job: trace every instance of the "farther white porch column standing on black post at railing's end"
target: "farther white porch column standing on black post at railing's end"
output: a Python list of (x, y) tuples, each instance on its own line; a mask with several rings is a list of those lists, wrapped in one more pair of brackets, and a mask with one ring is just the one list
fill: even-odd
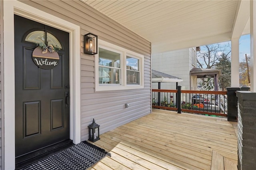
[(231, 39), (231, 87), (239, 87), (239, 38)]

